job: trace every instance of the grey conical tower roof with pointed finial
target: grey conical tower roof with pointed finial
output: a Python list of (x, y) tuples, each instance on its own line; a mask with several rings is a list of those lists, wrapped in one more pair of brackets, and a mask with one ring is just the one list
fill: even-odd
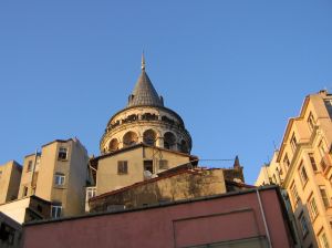
[(157, 91), (145, 72), (144, 56), (142, 56), (142, 73), (133, 93), (129, 95), (127, 107), (142, 105), (164, 106), (163, 99), (158, 96)]

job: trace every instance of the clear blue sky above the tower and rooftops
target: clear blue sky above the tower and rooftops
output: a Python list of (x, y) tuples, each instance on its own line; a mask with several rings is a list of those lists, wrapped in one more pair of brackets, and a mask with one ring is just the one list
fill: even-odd
[(143, 49), (193, 154), (238, 154), (251, 184), (304, 96), (332, 91), (332, 3), (1, 1), (0, 164), (73, 136), (97, 155)]

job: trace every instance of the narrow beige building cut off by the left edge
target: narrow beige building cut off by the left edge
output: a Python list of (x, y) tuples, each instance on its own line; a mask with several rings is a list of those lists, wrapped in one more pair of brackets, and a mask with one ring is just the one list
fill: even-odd
[(15, 161), (0, 165), (0, 204), (18, 198), (22, 166)]

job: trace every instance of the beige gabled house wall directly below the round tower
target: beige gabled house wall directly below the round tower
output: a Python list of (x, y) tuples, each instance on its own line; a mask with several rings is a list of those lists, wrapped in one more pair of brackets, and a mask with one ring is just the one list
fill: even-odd
[[(134, 183), (144, 180), (144, 161), (154, 161), (155, 173), (163, 172), (158, 169), (158, 161), (168, 161), (168, 168), (189, 162), (189, 156), (173, 153), (172, 151), (163, 151), (152, 147), (142, 147), (117, 153), (98, 159), (98, 168), (96, 174), (96, 195), (101, 195), (114, 189), (118, 189)], [(117, 174), (117, 162), (128, 162), (128, 173)]]

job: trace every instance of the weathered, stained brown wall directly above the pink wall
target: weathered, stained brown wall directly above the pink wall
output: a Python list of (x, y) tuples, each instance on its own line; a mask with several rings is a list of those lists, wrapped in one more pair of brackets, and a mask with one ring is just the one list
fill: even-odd
[(226, 185), (222, 169), (185, 170), (129, 186), (123, 192), (96, 197), (90, 203), (90, 208), (91, 211), (105, 211), (114, 206), (129, 209), (224, 193), (226, 193)]

